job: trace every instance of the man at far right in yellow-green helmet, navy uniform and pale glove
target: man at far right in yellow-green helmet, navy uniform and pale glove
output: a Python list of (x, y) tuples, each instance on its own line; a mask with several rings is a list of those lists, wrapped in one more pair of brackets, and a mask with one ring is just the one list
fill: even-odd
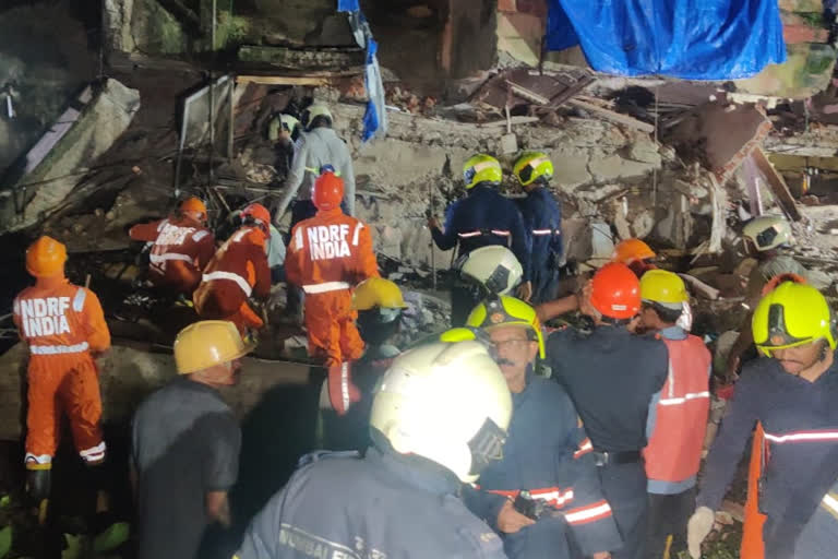
[[(752, 318), (757, 349), (735, 385), (721, 430), (707, 456), (698, 509), (690, 520), (690, 554), (713, 530), (747, 439), (758, 421), (762, 531), (745, 525), (743, 559), (835, 557), (838, 501), (838, 364), (835, 316), (814, 287), (786, 282), (768, 293)], [(758, 516), (749, 520), (761, 522)], [(749, 539), (756, 539), (752, 542)], [(747, 548), (747, 551), (745, 549)]]

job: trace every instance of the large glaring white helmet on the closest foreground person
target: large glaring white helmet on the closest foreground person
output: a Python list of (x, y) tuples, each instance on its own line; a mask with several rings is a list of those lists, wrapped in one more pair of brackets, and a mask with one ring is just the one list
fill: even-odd
[(512, 417), (506, 381), (479, 342), (435, 342), (410, 349), (379, 381), (370, 426), (396, 452), (417, 454), (476, 480), (503, 456)]

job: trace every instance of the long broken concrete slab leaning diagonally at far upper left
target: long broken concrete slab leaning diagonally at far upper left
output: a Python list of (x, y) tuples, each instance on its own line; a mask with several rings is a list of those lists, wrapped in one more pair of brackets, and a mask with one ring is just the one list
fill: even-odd
[(107, 79), (86, 87), (77, 104), (29, 151), (21, 178), (0, 192), (0, 233), (35, 225), (64, 200), (87, 166), (131, 123), (140, 92)]

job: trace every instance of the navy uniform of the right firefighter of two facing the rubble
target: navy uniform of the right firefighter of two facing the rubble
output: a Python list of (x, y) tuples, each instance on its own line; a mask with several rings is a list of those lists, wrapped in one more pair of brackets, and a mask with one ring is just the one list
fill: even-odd
[(555, 298), (562, 258), (562, 210), (546, 187), (537, 187), (518, 201), (527, 233), (532, 304)]

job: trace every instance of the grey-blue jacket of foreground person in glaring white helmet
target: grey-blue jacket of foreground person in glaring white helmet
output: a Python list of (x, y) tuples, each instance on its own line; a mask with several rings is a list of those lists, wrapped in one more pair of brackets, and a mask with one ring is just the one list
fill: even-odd
[(375, 448), (298, 469), (253, 519), (239, 559), (501, 559), (498, 535), (430, 461)]

